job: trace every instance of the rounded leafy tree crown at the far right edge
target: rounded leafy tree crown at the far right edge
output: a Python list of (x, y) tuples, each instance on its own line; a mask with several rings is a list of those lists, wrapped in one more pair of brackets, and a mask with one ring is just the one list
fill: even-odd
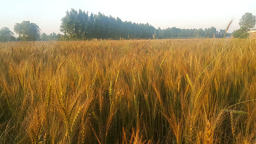
[(256, 24), (256, 17), (252, 13), (246, 12), (239, 21), (240, 28), (243, 31), (248, 31), (254, 28)]

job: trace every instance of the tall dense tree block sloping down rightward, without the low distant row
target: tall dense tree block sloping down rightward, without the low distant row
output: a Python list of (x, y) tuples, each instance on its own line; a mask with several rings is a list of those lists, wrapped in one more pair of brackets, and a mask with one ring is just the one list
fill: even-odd
[(74, 9), (66, 12), (66, 16), (61, 19), (60, 30), (65, 36), (72, 39), (119, 39), (122, 38), (152, 38), (155, 28), (147, 24), (135, 24), (132, 22), (122, 22), (120, 18), (111, 15), (106, 16), (100, 12), (98, 14)]

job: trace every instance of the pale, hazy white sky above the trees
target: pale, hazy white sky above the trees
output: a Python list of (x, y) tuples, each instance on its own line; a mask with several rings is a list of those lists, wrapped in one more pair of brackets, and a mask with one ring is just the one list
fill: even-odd
[[(0, 0), (0, 28), (22, 21), (36, 23), (42, 33), (61, 33), (61, 18), (71, 8), (104, 13), (122, 21), (149, 23), (155, 28), (239, 28), (245, 12), (256, 15), (256, 0)], [(17, 36), (14, 33), (15, 36)]]

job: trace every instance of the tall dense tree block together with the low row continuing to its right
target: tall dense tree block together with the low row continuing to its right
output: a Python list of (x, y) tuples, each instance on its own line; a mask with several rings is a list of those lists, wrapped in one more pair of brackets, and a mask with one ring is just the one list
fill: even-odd
[[(88, 12), (71, 9), (61, 19), (61, 32), (64, 36), (72, 39), (125, 39), (134, 38), (203, 38), (203, 37), (223, 37), (223, 30), (216, 31), (215, 27), (200, 29), (180, 29), (176, 27), (156, 29), (152, 25), (136, 24), (122, 21), (119, 17), (106, 16), (103, 13), (88, 14)], [(225, 31), (224, 31), (225, 32)], [(229, 36), (229, 35), (228, 35)], [(231, 36), (231, 35), (230, 35)]]

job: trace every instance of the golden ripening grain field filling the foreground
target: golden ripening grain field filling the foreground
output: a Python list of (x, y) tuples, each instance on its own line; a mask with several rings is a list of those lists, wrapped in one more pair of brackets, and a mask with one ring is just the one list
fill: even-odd
[(0, 43), (0, 144), (255, 144), (256, 41)]

